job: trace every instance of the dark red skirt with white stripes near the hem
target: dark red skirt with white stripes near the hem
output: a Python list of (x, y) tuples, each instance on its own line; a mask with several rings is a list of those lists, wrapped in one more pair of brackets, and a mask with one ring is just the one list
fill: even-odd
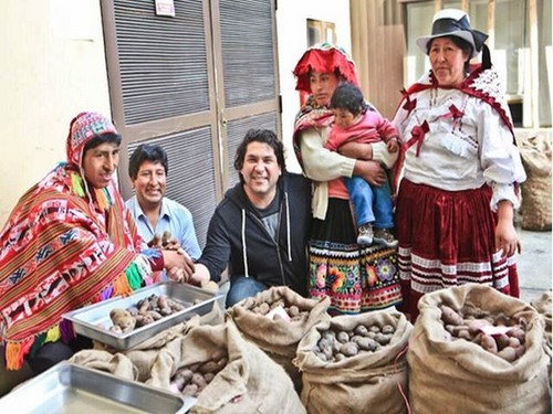
[(427, 293), (477, 283), (519, 297), (514, 256), (495, 252), (491, 189), (444, 191), (401, 180), (396, 226), (401, 310), (418, 316)]

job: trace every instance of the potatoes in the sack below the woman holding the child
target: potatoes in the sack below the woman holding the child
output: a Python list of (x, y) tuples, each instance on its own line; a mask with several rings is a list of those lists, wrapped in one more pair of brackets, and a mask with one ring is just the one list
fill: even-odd
[(395, 328), (357, 325), (351, 331), (328, 329), (321, 332), (313, 352), (325, 362), (340, 362), (363, 352), (375, 352), (392, 340)]

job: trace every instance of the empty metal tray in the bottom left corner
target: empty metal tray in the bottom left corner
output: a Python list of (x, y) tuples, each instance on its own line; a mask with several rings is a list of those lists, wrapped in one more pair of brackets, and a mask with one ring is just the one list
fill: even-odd
[(1, 413), (186, 413), (196, 399), (60, 362), (0, 399)]

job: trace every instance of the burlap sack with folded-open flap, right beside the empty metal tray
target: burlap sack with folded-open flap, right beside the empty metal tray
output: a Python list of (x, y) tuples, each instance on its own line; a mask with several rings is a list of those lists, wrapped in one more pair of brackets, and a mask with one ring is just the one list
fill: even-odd
[(292, 381), (251, 342), (232, 320), (223, 326), (200, 326), (184, 340), (180, 367), (228, 354), (229, 362), (199, 394), (190, 413), (305, 413)]

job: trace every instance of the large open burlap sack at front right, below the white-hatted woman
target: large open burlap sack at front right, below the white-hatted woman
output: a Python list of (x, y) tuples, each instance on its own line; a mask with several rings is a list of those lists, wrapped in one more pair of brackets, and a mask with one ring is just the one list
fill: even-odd
[[(510, 363), (466, 340), (446, 340), (440, 304), (504, 314), (526, 323), (525, 353)], [(543, 320), (522, 300), (468, 284), (426, 294), (409, 340), (414, 413), (551, 413)]]

